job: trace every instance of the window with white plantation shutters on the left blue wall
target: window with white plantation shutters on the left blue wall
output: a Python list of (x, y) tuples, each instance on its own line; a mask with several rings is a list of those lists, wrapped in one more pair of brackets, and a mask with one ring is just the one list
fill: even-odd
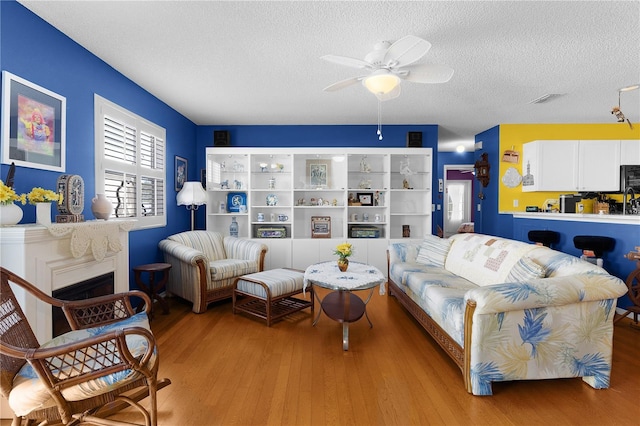
[(113, 203), (112, 217), (165, 226), (165, 129), (98, 95), (94, 108), (96, 193)]

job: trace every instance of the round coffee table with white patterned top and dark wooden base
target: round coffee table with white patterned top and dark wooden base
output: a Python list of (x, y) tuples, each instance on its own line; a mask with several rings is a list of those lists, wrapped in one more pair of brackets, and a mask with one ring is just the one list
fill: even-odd
[[(349, 350), (349, 323), (358, 321), (364, 315), (373, 327), (373, 323), (367, 314), (367, 303), (371, 300), (373, 289), (380, 286), (380, 294), (384, 294), (386, 278), (374, 266), (360, 262), (349, 262), (349, 269), (341, 272), (336, 261), (322, 262), (311, 265), (304, 273), (305, 287), (308, 284), (333, 290), (324, 299), (320, 299), (317, 291), (314, 291), (318, 303), (322, 309), (313, 321), (315, 326), (324, 312), (332, 320), (342, 323), (342, 349)], [(365, 300), (362, 300), (353, 291), (370, 290)]]

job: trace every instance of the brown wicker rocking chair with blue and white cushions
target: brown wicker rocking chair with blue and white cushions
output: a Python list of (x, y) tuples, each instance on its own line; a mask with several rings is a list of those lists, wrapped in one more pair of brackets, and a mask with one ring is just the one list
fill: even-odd
[[(62, 308), (72, 331), (40, 345), (9, 283)], [(146, 312), (135, 313), (139, 297)], [(140, 291), (81, 301), (54, 299), (0, 267), (0, 390), (22, 420), (41, 424), (122, 425), (109, 420), (133, 406), (157, 424), (158, 348), (149, 329), (149, 297)], [(138, 401), (150, 396), (149, 408)]]

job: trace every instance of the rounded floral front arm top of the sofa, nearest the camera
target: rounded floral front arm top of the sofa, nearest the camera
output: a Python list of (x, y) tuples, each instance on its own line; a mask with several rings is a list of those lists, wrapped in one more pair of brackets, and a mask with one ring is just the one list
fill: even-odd
[(615, 302), (626, 292), (624, 282), (612, 275), (579, 274), (474, 288), (465, 294), (465, 303), (475, 302), (476, 314), (490, 314), (599, 300)]

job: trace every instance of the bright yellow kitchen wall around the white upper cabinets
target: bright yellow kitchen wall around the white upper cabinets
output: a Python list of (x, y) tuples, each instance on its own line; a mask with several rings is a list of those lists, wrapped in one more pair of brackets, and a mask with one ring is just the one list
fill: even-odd
[[(542, 207), (548, 198), (557, 199), (560, 192), (522, 192), (522, 185), (509, 188), (502, 183), (502, 176), (509, 167), (515, 167), (522, 175), (522, 145), (538, 139), (597, 139), (621, 140), (640, 139), (640, 124), (635, 123), (630, 129), (626, 123), (611, 124), (501, 124), (500, 125), (500, 160), (505, 150), (520, 153), (518, 163), (500, 161), (499, 167), (499, 204), (498, 211), (525, 211), (526, 206)], [(514, 207), (518, 200), (518, 207)]]

